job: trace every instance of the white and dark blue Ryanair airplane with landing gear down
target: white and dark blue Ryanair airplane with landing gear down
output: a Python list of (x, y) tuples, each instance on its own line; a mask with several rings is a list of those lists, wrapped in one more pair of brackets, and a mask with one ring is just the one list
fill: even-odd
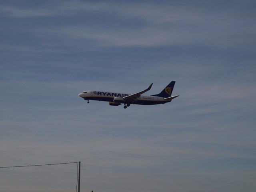
[(171, 96), (174, 84), (175, 81), (172, 81), (162, 90), (162, 92), (150, 96), (144, 96), (142, 94), (149, 91), (152, 87), (152, 84), (150, 84), (150, 86), (145, 90), (134, 94), (116, 93), (109, 91), (84, 91), (78, 94), (78, 96), (82, 97), (84, 100), (87, 100), (87, 103), (89, 103), (89, 100), (106, 101), (111, 106), (119, 106), (124, 104), (124, 108), (126, 109), (131, 104), (156, 105), (171, 102), (174, 98), (179, 96)]

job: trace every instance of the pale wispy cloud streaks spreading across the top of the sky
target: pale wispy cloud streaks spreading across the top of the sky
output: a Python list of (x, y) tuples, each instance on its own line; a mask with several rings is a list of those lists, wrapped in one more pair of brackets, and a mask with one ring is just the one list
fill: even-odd
[[(48, 29), (48, 33), (56, 32), (69, 38), (94, 40), (98, 46), (211, 44), (223, 48), (251, 49), (256, 41), (256, 28), (250, 24), (253, 19), (243, 17), (242, 11), (234, 13), (232, 9), (204, 12), (193, 6), (143, 3), (120, 3), (113, 6), (109, 3), (75, 1), (45, 5), (42, 8), (2, 6), (2, 10), (14, 17), (100, 13), (101, 17), (112, 19), (102, 25), (95, 25), (93, 23), (101, 23), (99, 18), (86, 17), (82, 23), (75, 26), (51, 26), (51, 29)], [(130, 28), (125, 21), (120, 22), (122, 19), (127, 22), (137, 20), (141, 23)], [(88, 20), (90, 22), (87, 22)], [(237, 28), (238, 24), (240, 28)], [(114, 25), (116, 27), (109, 27)]]

